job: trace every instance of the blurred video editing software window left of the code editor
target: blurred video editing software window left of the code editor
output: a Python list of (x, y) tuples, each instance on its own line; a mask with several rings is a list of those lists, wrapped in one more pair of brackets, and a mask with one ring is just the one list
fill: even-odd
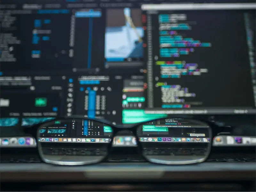
[(116, 124), (166, 116), (144, 113), (141, 9), (123, 5), (1, 1), (0, 117), (12, 119), (0, 126), (72, 115)]

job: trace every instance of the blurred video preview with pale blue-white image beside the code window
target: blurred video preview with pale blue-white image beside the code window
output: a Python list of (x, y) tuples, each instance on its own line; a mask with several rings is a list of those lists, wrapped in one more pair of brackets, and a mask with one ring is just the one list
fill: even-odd
[(105, 30), (105, 68), (144, 67), (140, 9), (108, 9)]

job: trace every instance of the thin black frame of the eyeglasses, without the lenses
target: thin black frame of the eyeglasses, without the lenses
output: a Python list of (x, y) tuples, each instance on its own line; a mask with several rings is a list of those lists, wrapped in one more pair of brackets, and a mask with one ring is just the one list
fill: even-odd
[[(209, 138), (211, 138), (211, 143), (207, 147), (207, 151), (206, 151), (206, 154), (205, 154), (204, 158), (196, 159), (196, 160), (185, 160), (185, 161), (175, 162), (175, 161), (154, 160), (154, 159), (149, 160), (145, 155), (143, 155), (143, 147), (142, 147), (142, 144), (139, 141), (139, 138), (138, 138), (138, 135), (137, 135), (137, 130), (138, 130), (139, 126), (141, 126), (143, 124), (146, 124), (148, 122), (157, 121), (157, 120), (166, 119), (166, 118), (168, 118), (168, 119), (172, 119), (172, 118), (173, 119), (177, 119), (177, 118), (189, 119), (189, 120), (192, 120), (194, 122), (200, 122), (201, 124), (204, 123), (206, 126), (208, 126), (208, 128), (210, 130), (209, 131)], [(138, 149), (139, 154), (142, 156), (143, 160), (145, 160), (149, 163), (164, 164), (164, 165), (185, 165), (185, 164), (202, 163), (202, 162), (207, 160), (207, 158), (209, 157), (209, 155), (211, 153), (211, 149), (212, 149), (212, 143), (213, 143), (212, 127), (209, 125), (209, 123), (206, 123), (205, 121), (197, 120), (197, 119), (194, 119), (194, 118), (164, 117), (164, 118), (157, 118), (157, 119), (148, 120), (148, 121), (145, 121), (145, 122), (140, 122), (140, 123), (137, 123), (137, 124), (133, 124), (132, 126), (129, 126), (129, 125), (126, 126), (126, 125), (115, 125), (115, 124), (113, 124), (110, 121), (105, 120), (105, 119), (88, 118), (88, 117), (82, 117), (82, 116), (67, 116), (67, 117), (64, 117), (64, 118), (60, 117), (60, 118), (51, 119), (49, 121), (45, 121), (45, 122), (33, 125), (32, 127), (24, 130), (26, 133), (31, 134), (36, 139), (37, 149), (38, 149), (39, 155), (41, 157), (41, 160), (44, 161), (44, 163), (54, 164), (54, 165), (78, 166), (78, 165), (91, 165), (91, 164), (102, 163), (102, 162), (104, 162), (105, 160), (108, 159), (109, 154), (110, 154), (109, 152), (110, 152), (111, 148), (113, 147), (112, 142), (109, 142), (107, 144), (108, 145), (107, 155), (100, 161), (99, 160), (94, 160), (94, 161), (90, 160), (90, 163), (85, 163), (85, 161), (83, 161), (83, 162), (53, 161), (53, 160), (48, 160), (48, 159), (43, 158), (43, 155), (42, 155), (43, 151), (42, 151), (41, 142), (38, 142), (38, 129), (43, 125), (47, 126), (48, 124), (52, 124), (52, 122), (54, 122), (54, 121), (63, 121), (63, 120), (71, 120), (71, 119), (91, 120), (91, 121), (96, 121), (96, 122), (107, 124), (108, 126), (111, 126), (112, 135), (111, 135), (110, 140), (113, 140), (115, 138), (116, 134), (120, 131), (125, 130), (125, 131), (132, 132), (133, 136), (135, 137), (135, 139), (137, 141), (136, 148)]]

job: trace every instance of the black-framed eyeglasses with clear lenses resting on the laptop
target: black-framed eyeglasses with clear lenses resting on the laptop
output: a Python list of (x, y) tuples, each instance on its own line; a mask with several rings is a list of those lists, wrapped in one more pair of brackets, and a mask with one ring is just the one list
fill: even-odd
[[(130, 144), (137, 146), (148, 162), (194, 164), (204, 162), (212, 148), (210, 125), (187, 118), (161, 118), (132, 126), (101, 119), (61, 118), (34, 129), (41, 159), (57, 165), (100, 163), (108, 159), (113, 146)], [(120, 132), (128, 136), (121, 137)]]

